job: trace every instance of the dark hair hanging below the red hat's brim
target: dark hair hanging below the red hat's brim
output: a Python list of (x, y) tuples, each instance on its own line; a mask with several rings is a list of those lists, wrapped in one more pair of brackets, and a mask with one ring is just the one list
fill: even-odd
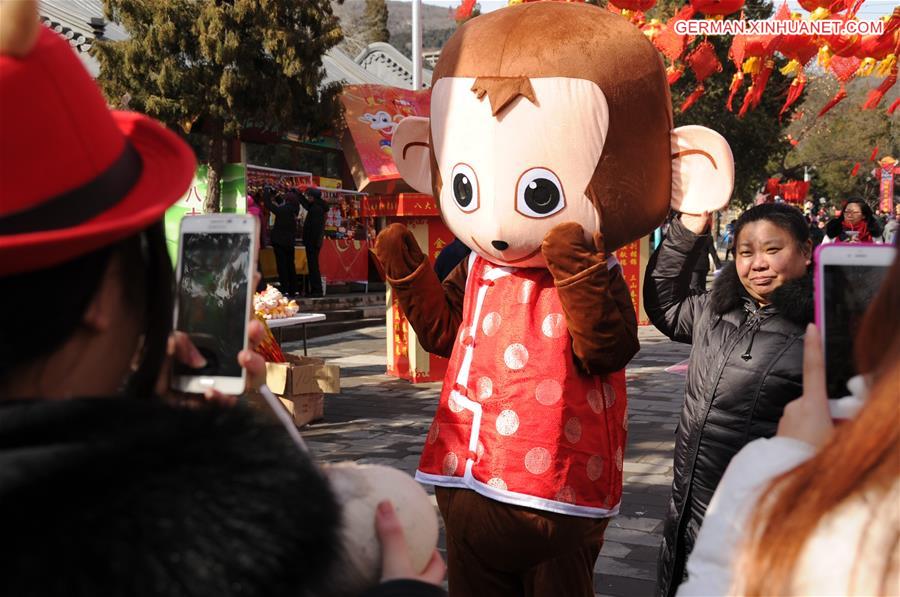
[(172, 326), (174, 284), (162, 223), (65, 263), (0, 278), (0, 381), (53, 354), (72, 337), (114, 255), (128, 273), (124, 300), (134, 305), (145, 330), (129, 390), (141, 396), (152, 393)]

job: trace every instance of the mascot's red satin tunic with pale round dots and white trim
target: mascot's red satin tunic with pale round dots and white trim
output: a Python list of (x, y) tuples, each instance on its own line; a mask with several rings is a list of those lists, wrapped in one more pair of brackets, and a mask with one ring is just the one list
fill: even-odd
[(625, 371), (581, 373), (546, 269), (475, 257), (419, 481), (602, 518), (622, 497)]

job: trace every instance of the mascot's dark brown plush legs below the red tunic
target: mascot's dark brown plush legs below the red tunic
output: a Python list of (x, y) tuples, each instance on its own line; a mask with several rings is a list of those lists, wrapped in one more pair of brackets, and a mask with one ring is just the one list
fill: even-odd
[(503, 504), (435, 487), (447, 536), (450, 595), (593, 597), (608, 519)]

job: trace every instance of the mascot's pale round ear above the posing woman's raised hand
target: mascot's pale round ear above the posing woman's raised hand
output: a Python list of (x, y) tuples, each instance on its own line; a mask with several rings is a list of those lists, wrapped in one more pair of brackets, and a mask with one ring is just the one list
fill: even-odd
[(714, 212), (728, 205), (734, 190), (734, 157), (728, 141), (703, 126), (672, 131), (672, 209)]

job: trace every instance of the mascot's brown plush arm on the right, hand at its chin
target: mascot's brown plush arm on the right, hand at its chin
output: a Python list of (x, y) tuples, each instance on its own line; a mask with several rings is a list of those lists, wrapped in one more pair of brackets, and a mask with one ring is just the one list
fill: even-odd
[(637, 317), (620, 268), (607, 269), (601, 234), (593, 243), (575, 222), (555, 226), (541, 252), (572, 335), (572, 351), (592, 374), (618, 371), (637, 354)]

